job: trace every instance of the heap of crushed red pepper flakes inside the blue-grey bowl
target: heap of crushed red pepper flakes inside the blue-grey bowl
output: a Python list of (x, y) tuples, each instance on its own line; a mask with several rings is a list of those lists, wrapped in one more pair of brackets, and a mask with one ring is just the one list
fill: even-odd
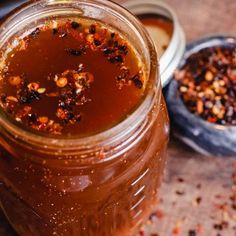
[(192, 54), (175, 73), (190, 112), (221, 125), (236, 125), (235, 48), (212, 47)]

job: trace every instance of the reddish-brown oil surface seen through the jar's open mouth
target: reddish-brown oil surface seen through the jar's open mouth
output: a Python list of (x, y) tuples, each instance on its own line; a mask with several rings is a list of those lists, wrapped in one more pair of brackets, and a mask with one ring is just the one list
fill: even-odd
[[(140, 78), (143, 75), (137, 55), (118, 33), (107, 28), (104, 30), (100, 24), (81, 21), (58, 24), (56, 29), (40, 27), (34, 30), (9, 54), (6, 60), (7, 67), (2, 73), (0, 92), (5, 100), (6, 97), (13, 96), (18, 102), (10, 101), (11, 109), (6, 108), (9, 104), (2, 102), (4, 108), (16, 118), (16, 114), (22, 113), (26, 106), (31, 107), (27, 115), (21, 117), (23, 123), (47, 131), (42, 127), (45, 124), (39, 121), (32, 122), (29, 116), (36, 115), (37, 119), (47, 117), (48, 122), (52, 120), (60, 125), (58, 133), (67, 135), (87, 136), (114, 126), (133, 111), (143, 96), (143, 78)], [(98, 44), (101, 45), (96, 46), (93, 37), (97, 37), (100, 41)], [(106, 51), (117, 47), (120, 50), (111, 54)], [(80, 53), (78, 50), (82, 51), (82, 55), (75, 55)], [(120, 58), (112, 61), (111, 57), (115, 56), (121, 56), (123, 62), (119, 61)], [(58, 87), (54, 81), (56, 76), (60, 78), (66, 70), (74, 70), (73, 73), (89, 72), (94, 77), (89, 88), (77, 97), (70, 97), (74, 102), (80, 103), (70, 106), (72, 116), (79, 116), (76, 122), (59, 119), (56, 115), (62, 91), (75, 90), (75, 87), (68, 84), (63, 88)], [(117, 79), (124, 70), (129, 71), (127, 78)], [(9, 83), (12, 76), (20, 76), (21, 80), (27, 81), (26, 85), (37, 83), (46, 91), (40, 94), (39, 99), (21, 102), (22, 98), (17, 91), (19, 93), (19, 89), (22, 88)], [(53, 94), (57, 95), (54, 97)], [(63, 111), (67, 112), (66, 109)], [(36, 118), (34, 116), (34, 120)]]

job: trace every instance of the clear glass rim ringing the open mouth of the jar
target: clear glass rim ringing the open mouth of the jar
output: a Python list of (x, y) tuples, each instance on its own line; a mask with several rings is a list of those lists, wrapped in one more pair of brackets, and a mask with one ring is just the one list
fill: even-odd
[[(125, 136), (128, 132), (132, 132), (135, 130), (135, 128), (138, 126), (138, 123), (142, 119), (145, 118), (145, 116), (150, 112), (151, 107), (155, 103), (155, 101), (158, 99), (160, 100), (161, 97), (161, 84), (160, 79), (157, 76), (157, 55), (155, 51), (154, 44), (152, 40), (150, 39), (148, 33), (144, 29), (143, 25), (136, 19), (135, 16), (133, 16), (129, 11), (127, 11), (122, 6), (118, 5), (117, 3), (114, 3), (112, 1), (103, 1), (103, 0), (36, 0), (31, 1), (23, 4), (20, 6), (17, 10), (13, 11), (11, 15), (9, 15), (5, 21), (0, 25), (0, 35), (1, 35), (1, 29), (6, 29), (7, 26), (11, 23), (11, 21), (19, 14), (23, 14), (23, 12), (26, 9), (34, 8), (37, 5), (41, 5), (43, 7), (47, 6), (53, 6), (53, 4), (58, 4), (60, 6), (63, 4), (75, 4), (73, 7), (76, 7), (79, 9), (79, 7), (82, 4), (93, 4), (99, 5), (102, 7), (105, 7), (108, 11), (112, 10), (110, 12), (115, 12), (119, 15), (122, 19), (124, 19), (129, 26), (133, 27), (133, 29), (138, 33), (140, 39), (143, 39), (143, 43), (146, 44), (149, 55), (150, 55), (150, 64), (148, 65), (149, 71), (148, 71), (148, 84), (147, 91), (145, 94), (145, 97), (143, 101), (140, 103), (140, 105), (136, 108), (136, 110), (130, 114), (128, 118), (121, 121), (117, 125), (104, 130), (100, 133), (86, 136), (86, 137), (57, 137), (57, 136), (49, 136), (47, 134), (40, 133), (38, 131), (34, 131), (31, 129), (27, 129), (25, 127), (21, 127), (21, 125), (18, 124), (18, 122), (10, 121), (5, 112), (0, 111), (0, 125), (5, 128), (5, 130), (8, 133), (14, 134), (14, 137), (17, 139), (21, 139), (24, 142), (30, 142), (34, 143), (35, 146), (42, 145), (42, 146), (53, 146), (55, 148), (61, 148), (61, 149), (70, 149), (78, 146), (91, 146), (93, 145), (100, 145), (100, 146), (108, 146), (112, 145), (116, 140), (121, 140), (122, 137)], [(148, 107), (148, 109), (147, 109)], [(139, 122), (137, 122), (137, 118), (139, 118)], [(136, 124), (137, 123), (137, 124)], [(122, 132), (123, 131), (123, 132)], [(111, 140), (112, 139), (112, 140)], [(108, 140), (110, 142), (108, 142)]]

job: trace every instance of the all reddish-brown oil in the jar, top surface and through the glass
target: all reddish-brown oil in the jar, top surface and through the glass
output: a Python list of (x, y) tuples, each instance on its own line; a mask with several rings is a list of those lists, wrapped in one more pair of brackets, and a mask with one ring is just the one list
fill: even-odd
[[(11, 54), (14, 56), (7, 59), (8, 70), (2, 73), (1, 82), (1, 93), (6, 93), (5, 99), (2, 96), (3, 108), (17, 118), (17, 110), (31, 106), (38, 118), (46, 116), (59, 122), (62, 134), (66, 135), (89, 135), (111, 127), (141, 102), (145, 89), (142, 73), (137, 74), (141, 70), (138, 59), (127, 46), (124, 65), (129, 67), (132, 79), (117, 83), (115, 77), (120, 74), (122, 63), (109, 62), (101, 50), (93, 51), (93, 47), (85, 55), (72, 56), (68, 48), (77, 49), (78, 39), (70, 34), (65, 37), (61, 32), (53, 34), (52, 29), (41, 31), (28, 45), (19, 46), (26, 50), (15, 49)], [(60, 98), (47, 97), (46, 93), (60, 92), (61, 88), (51, 78), (67, 69), (77, 70), (81, 63), (84, 72), (94, 75), (90, 88), (84, 91), (91, 101), (76, 107), (81, 121), (65, 124), (55, 115)], [(28, 82), (39, 83), (47, 91), (30, 103), (18, 101), (16, 105), (12, 98), (6, 102), (7, 96), (8, 100), (9, 96), (21, 99), (17, 97), (19, 88), (9, 85), (11, 76), (26, 77)], [(10, 81), (16, 83), (17, 79)], [(32, 126), (27, 119), (23, 117), (25, 124)], [(19, 235), (135, 235), (154, 209), (165, 165), (168, 117), (163, 100), (160, 104), (156, 101), (147, 119), (152, 125), (135, 138), (125, 153), (101, 163), (88, 160), (87, 164), (76, 166), (74, 161), (82, 160), (79, 154), (65, 159), (63, 152), (42, 153), (42, 147), (29, 148), (1, 131), (0, 205)]]

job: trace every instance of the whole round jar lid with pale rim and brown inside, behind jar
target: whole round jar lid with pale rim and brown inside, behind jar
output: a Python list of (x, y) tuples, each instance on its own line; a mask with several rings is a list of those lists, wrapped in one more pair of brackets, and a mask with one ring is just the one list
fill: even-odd
[(125, 0), (122, 5), (144, 23), (157, 45), (164, 87), (172, 78), (186, 46), (185, 35), (175, 12), (159, 0)]

